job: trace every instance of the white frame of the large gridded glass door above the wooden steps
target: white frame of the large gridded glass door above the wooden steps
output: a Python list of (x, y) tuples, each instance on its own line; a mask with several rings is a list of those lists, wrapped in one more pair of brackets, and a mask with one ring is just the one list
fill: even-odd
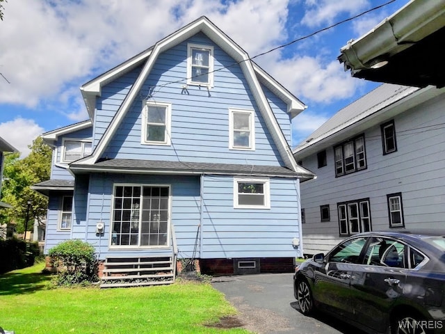
[[(115, 188), (116, 186), (140, 186), (141, 188), (144, 186), (165, 186), (168, 187), (168, 223), (167, 223), (167, 244), (161, 245), (161, 246), (136, 246), (136, 245), (127, 245), (127, 246), (120, 246), (120, 245), (113, 245), (113, 212), (114, 212), (114, 194), (115, 194)], [(141, 200), (142, 200), (142, 192), (141, 192)], [(142, 210), (142, 205), (139, 207), (140, 210)], [(111, 196), (111, 215), (110, 215), (110, 235), (108, 238), (108, 248), (109, 249), (165, 249), (170, 248), (170, 239), (171, 239), (171, 228), (172, 225), (172, 185), (171, 184), (145, 184), (145, 183), (115, 183), (113, 184), (113, 194)], [(139, 217), (142, 217), (142, 214), (139, 214)], [(140, 232), (139, 232), (140, 233)], [(140, 234), (139, 237), (140, 238)], [(139, 241), (138, 241), (139, 242)]]

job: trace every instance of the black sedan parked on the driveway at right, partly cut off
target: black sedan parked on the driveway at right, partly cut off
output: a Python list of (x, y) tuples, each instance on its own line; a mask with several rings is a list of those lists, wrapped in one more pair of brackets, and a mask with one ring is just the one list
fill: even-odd
[(296, 269), (304, 315), (330, 312), (369, 333), (445, 333), (445, 232), (366, 232)]

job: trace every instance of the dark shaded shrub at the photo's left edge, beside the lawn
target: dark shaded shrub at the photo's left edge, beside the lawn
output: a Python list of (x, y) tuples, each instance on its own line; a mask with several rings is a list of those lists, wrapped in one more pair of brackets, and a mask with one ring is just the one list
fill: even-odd
[(0, 273), (31, 267), (38, 255), (36, 242), (27, 243), (16, 238), (0, 240)]

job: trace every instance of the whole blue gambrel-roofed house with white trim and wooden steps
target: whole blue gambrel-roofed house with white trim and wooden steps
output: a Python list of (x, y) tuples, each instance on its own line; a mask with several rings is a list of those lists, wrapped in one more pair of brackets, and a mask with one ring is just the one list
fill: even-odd
[(290, 148), (305, 105), (207, 17), (81, 93), (90, 119), (42, 135), (54, 148), (51, 180), (34, 186), (49, 197), (45, 252), (89, 242), (104, 286), (169, 283), (176, 261), (293, 270), (300, 180), (314, 177)]

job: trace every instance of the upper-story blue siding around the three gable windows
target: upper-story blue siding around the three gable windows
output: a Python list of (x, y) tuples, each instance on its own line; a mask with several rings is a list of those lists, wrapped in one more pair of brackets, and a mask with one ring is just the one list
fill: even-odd
[[(214, 86), (209, 90), (207, 87), (191, 85), (184, 88), (188, 42), (212, 45), (215, 70), (227, 66), (214, 72)], [(283, 161), (257, 108), (241, 67), (234, 63), (233, 58), (202, 33), (160, 54), (103, 157), (227, 164), (245, 164), (247, 161), (248, 164), (282, 166)], [(133, 72), (136, 74), (136, 71)], [(175, 82), (181, 79), (184, 79), (184, 82)], [(125, 88), (122, 85), (115, 86), (115, 92), (112, 86), (107, 86), (109, 99), (112, 99), (113, 103), (103, 95), (98, 108), (106, 106), (107, 111), (97, 110), (97, 136), (102, 136), (101, 129), (105, 129), (110, 122), (128, 92), (130, 82), (131, 80)], [(286, 123), (283, 131), (289, 141), (289, 116), (285, 106), (278, 102), (277, 97), (270, 91), (266, 92), (266, 95), (277, 113), (280, 125)], [(172, 105), (171, 145), (141, 144), (145, 97), (149, 102), (165, 102)], [(254, 110), (255, 150), (229, 150), (229, 108)]]

